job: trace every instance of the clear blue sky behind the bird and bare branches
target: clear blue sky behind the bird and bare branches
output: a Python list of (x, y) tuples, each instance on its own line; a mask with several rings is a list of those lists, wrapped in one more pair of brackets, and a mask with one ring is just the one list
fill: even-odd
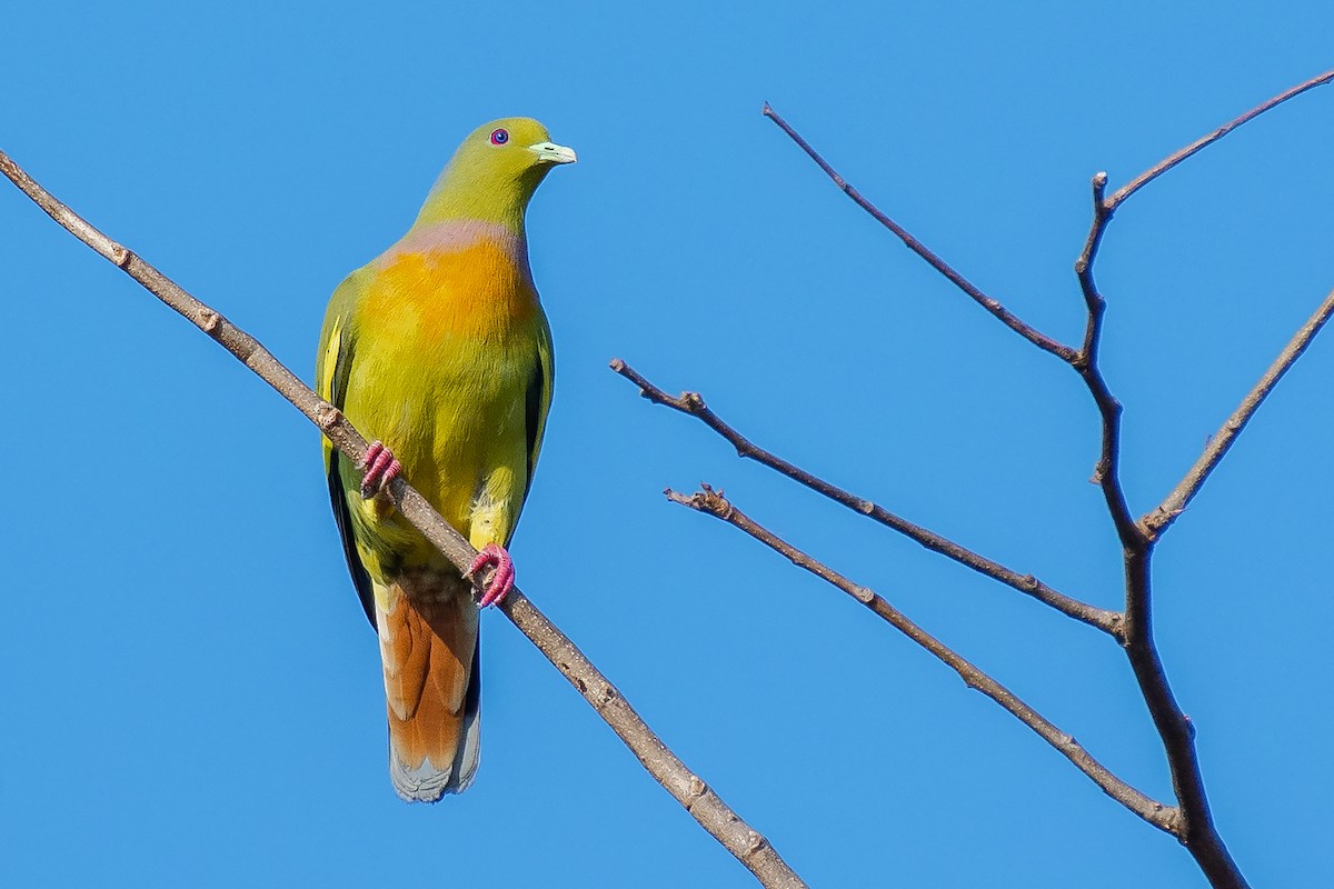
[[(738, 461), (606, 364), (1117, 606), (1077, 377), (760, 105), (1074, 343), (1089, 177), (1123, 184), (1330, 68), (1334, 8), (380, 5), (9, 9), (0, 148), (309, 380), (328, 293), (402, 235), (458, 140), (540, 117), (580, 163), (530, 215), (558, 381), (523, 589), (812, 885), (1205, 885), (851, 600), (659, 492), (726, 488), (1166, 800), (1113, 645)], [(1334, 287), (1331, 121), (1334, 91), (1303, 96), (1118, 212), (1098, 273), (1137, 512)], [(316, 433), (7, 188), (7, 885), (751, 885), (499, 614), (476, 785), (399, 802)], [(1163, 658), (1254, 885), (1334, 881), (1331, 373), (1318, 340), (1157, 560)]]

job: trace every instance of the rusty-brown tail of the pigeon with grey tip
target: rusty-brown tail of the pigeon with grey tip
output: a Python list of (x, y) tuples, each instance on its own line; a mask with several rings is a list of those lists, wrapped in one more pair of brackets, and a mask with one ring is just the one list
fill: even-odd
[(478, 770), (478, 606), (458, 574), (406, 574), (375, 590), (390, 712), (390, 778), (408, 802), (462, 793)]

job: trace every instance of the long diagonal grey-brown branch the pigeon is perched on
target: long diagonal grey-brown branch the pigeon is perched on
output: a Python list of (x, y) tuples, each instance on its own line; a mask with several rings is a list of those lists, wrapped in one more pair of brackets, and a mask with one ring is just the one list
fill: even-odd
[[(75, 237), (124, 269), (148, 292), (236, 356), (245, 367), (273, 387), (279, 395), (296, 405), (348, 458), (352, 461), (362, 458), (366, 453), (366, 439), (334, 405), (315, 395), (255, 337), (196, 300), (133, 252), (89, 225), (33, 181), (4, 152), (0, 152), (0, 173), (4, 173), (37, 207)], [(402, 478), (394, 481), (391, 494), (403, 516), (460, 570), (467, 570), (476, 556), (475, 550), (440, 517), (431, 504)], [(624, 696), (607, 681), (564, 633), (538, 610), (536, 605), (515, 589), (500, 604), (500, 610), (583, 694), (598, 716), (634, 752), (644, 769), (686, 808), (704, 830), (736, 856), (738, 861), (750, 869), (762, 885), (782, 886), (783, 889), (806, 886), (763, 836), (742, 821), (699, 776), (676, 758)]]

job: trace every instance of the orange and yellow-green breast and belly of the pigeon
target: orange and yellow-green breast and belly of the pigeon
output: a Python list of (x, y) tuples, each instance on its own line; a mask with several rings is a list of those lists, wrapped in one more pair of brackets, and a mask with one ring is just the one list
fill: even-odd
[(524, 395), (543, 321), (522, 251), (458, 240), (406, 239), (372, 264), (347, 415), (466, 532), (482, 480), (526, 460)]

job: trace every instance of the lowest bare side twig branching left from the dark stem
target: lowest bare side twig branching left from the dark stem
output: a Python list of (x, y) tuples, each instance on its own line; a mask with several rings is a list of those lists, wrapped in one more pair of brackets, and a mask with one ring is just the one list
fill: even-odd
[(882, 620), (887, 621), (895, 629), (902, 632), (910, 640), (924, 648), (950, 669), (958, 673), (964, 685), (982, 692), (1005, 708), (1017, 720), (1033, 729), (1043, 741), (1055, 748), (1058, 753), (1070, 760), (1077, 769), (1083, 772), (1094, 784), (1102, 788), (1103, 793), (1159, 830), (1175, 834), (1177, 809), (1158, 802), (1118, 778), (1105, 765), (1098, 762), (1098, 760), (1095, 760), (1073, 736), (1062, 732), (1059, 728), (1047, 721), (1041, 713), (1019, 700), (1019, 697), (1010, 692), (1010, 689), (1000, 685), (1000, 682), (974, 666), (944, 642), (939, 641), (914, 624), (902, 612), (890, 605), (890, 602), (887, 602), (882, 596), (878, 596), (866, 586), (854, 584), (843, 574), (839, 574), (830, 566), (816, 561), (800, 549), (796, 549), (783, 538), (778, 537), (750, 516), (736, 509), (736, 506), (723, 497), (723, 492), (714, 490), (707, 484), (700, 486), (700, 492), (690, 496), (676, 493), (671, 489), (668, 489), (666, 494), (672, 502), (690, 506), (696, 512), (702, 512), (716, 518), (722, 518), (734, 528), (738, 528), (760, 541), (770, 549), (786, 556), (798, 568), (803, 568), (816, 577), (838, 586), (844, 593), (870, 608)]

